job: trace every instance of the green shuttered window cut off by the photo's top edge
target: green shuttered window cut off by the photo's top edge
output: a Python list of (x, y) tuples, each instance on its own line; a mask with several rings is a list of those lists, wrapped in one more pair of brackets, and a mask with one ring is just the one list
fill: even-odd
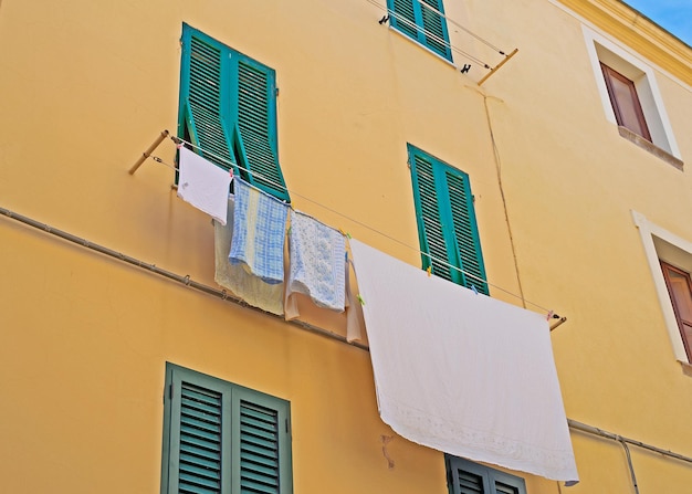
[(387, 0), (391, 27), (451, 61), (442, 0)]

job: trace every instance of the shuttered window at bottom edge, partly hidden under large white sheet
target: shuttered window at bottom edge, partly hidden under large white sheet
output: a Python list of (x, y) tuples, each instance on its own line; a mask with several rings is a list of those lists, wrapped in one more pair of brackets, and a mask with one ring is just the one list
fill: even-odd
[(450, 494), (526, 494), (524, 479), (518, 476), (450, 454), (444, 462)]

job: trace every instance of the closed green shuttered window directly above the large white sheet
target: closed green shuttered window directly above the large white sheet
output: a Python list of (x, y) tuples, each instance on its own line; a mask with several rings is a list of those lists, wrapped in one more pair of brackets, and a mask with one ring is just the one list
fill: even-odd
[(423, 269), (489, 294), (469, 176), (408, 145)]

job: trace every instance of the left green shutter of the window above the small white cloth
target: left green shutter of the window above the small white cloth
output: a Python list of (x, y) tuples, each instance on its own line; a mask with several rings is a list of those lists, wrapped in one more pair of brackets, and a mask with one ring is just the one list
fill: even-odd
[(201, 148), (205, 158), (229, 169), (235, 162), (229, 125), (228, 48), (209, 36), (184, 29), (178, 135)]

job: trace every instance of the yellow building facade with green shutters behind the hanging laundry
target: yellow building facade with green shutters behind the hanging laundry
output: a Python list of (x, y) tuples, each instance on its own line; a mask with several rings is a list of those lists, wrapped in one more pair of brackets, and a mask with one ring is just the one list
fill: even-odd
[[(232, 75), (195, 99), (217, 87), (195, 36), (220, 50), (222, 83), (247, 66), (266, 85)], [(625, 3), (1, 0), (0, 66), (4, 492), (692, 483), (692, 50)], [(209, 111), (217, 96), (234, 109)], [(350, 340), (345, 314), (303, 303), (286, 322), (217, 283), (214, 227), (178, 197), (170, 136), (237, 176), (265, 159), (295, 210), (415, 266), (436, 255), (417, 167), (465, 180), (455, 239), (475, 244), (461, 271), (432, 272), (549, 317), (579, 483), (474, 463), (485, 484), (451, 485), (442, 452), (380, 419), (367, 337)], [(221, 484), (185, 491), (171, 423), (198, 392), (186, 376), (219, 410), (270, 400), (276, 465), (200, 460)]]

